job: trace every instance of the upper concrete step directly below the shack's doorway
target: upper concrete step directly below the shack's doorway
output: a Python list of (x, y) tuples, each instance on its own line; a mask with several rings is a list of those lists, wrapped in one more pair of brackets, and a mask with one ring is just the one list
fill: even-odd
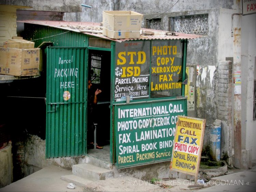
[(105, 180), (106, 178), (112, 178), (114, 176), (113, 171), (88, 163), (73, 165), (72, 173), (73, 175), (93, 181)]

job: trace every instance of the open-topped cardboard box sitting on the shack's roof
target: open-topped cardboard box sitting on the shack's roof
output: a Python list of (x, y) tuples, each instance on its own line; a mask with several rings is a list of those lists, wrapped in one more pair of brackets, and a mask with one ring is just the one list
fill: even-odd
[(134, 11), (103, 11), (103, 35), (112, 39), (140, 38), (143, 15)]

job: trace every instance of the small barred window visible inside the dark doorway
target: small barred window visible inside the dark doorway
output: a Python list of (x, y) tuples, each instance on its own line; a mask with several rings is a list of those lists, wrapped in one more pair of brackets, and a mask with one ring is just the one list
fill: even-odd
[(101, 61), (101, 55), (91, 54), (91, 81), (94, 84), (100, 84)]

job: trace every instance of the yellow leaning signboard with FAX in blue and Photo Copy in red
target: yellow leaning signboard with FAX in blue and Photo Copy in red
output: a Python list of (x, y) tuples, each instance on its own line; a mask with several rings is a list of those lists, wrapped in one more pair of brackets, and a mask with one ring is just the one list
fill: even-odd
[(170, 168), (197, 177), (205, 119), (178, 116)]

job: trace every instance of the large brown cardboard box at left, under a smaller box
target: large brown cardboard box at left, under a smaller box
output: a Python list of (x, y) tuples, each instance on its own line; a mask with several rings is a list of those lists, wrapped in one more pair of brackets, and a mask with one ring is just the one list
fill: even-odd
[(29, 76), (39, 74), (40, 49), (0, 48), (0, 74)]

